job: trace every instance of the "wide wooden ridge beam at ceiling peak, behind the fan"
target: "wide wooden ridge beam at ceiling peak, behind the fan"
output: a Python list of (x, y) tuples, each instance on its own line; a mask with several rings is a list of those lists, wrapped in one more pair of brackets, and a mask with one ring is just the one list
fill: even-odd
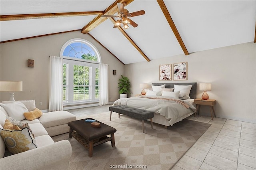
[(126, 3), (126, 5), (130, 4), (134, 0), (116, 0), (112, 5), (110, 5), (103, 14), (99, 14), (96, 18), (94, 18), (91, 22), (89, 22), (84, 28), (82, 28), (82, 33), (87, 34), (92, 29), (96, 28), (102, 22), (106, 21), (108, 18), (101, 17), (102, 15), (114, 15), (118, 12), (117, 3)]

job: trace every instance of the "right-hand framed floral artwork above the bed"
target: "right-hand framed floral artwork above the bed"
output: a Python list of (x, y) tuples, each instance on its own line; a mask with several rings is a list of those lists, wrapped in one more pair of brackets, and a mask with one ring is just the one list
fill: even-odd
[(186, 80), (188, 76), (187, 72), (188, 62), (175, 63), (172, 65), (173, 80)]

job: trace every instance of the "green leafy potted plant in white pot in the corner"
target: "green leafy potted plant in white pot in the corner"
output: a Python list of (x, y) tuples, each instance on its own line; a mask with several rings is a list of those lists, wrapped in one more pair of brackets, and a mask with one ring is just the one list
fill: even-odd
[(130, 89), (131, 89), (130, 80), (127, 77), (123, 76), (123, 75), (121, 75), (121, 76), (122, 76), (122, 78), (118, 80), (119, 81), (118, 88), (120, 88), (119, 89), (120, 99), (121, 98), (126, 98), (127, 93), (131, 94), (131, 92), (130, 92)]

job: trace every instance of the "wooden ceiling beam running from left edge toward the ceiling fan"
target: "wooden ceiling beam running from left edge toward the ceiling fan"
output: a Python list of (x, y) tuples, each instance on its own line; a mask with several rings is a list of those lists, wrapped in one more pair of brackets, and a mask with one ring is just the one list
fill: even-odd
[(88, 12), (60, 12), (60, 13), (45, 13), (45, 14), (17, 14), (17, 15), (1, 15), (0, 21), (10, 20), (28, 20), (38, 18), (56, 18), (56, 17), (70, 17), (70, 16), (87, 16), (100, 15), (104, 11), (88, 11)]

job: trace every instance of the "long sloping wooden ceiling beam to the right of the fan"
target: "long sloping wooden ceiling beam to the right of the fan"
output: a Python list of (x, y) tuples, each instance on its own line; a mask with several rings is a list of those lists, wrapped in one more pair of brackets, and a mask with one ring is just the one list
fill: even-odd
[(166, 8), (164, 1), (163, 0), (157, 0), (162, 12), (164, 13), (164, 16), (166, 18), (166, 20), (168, 21), (170, 27), (172, 28), (172, 32), (174, 33), (176, 39), (178, 40), (178, 42), (180, 43), (180, 47), (182, 48), (182, 50), (184, 51), (185, 55), (189, 55), (188, 50), (185, 46), (185, 44), (182, 41), (182, 38), (180, 37), (180, 34), (172, 20), (172, 17), (170, 15), (170, 13), (168, 12), (168, 9)]

